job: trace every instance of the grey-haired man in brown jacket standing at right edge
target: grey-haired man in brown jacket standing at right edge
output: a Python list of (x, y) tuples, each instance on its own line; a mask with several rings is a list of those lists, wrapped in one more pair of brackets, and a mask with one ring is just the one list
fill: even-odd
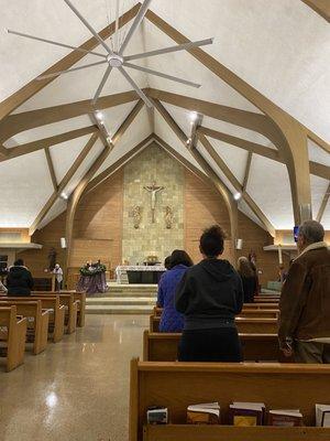
[(279, 300), (279, 347), (297, 363), (330, 363), (330, 250), (316, 220), (299, 227), (298, 257)]

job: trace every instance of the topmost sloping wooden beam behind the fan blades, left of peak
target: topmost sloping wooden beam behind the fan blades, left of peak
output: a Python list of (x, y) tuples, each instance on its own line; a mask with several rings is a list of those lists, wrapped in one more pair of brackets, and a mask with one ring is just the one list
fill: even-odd
[[(119, 19), (119, 28), (124, 26), (129, 21), (131, 21), (136, 13), (139, 12), (140, 6), (139, 3), (131, 8), (128, 12)], [(116, 32), (116, 22), (112, 22), (105, 29), (99, 32), (99, 35), (102, 40), (109, 39)], [(91, 37), (82, 43), (79, 47), (86, 51), (92, 51), (96, 49), (100, 43), (96, 37)], [(81, 58), (86, 56), (86, 53), (79, 51), (72, 51), (68, 55), (64, 58), (59, 60), (57, 63), (53, 64), (50, 68), (45, 72), (41, 73), (38, 76), (50, 75), (56, 72), (66, 71), (69, 67), (74, 66), (78, 63)], [(21, 89), (12, 94), (10, 97), (6, 98), (2, 103), (0, 103), (0, 120), (20, 107), (23, 103), (25, 103), (29, 98), (33, 95), (42, 90), (45, 86), (50, 83), (54, 82), (57, 77), (46, 78), (42, 80), (36, 80), (35, 78), (23, 86)]]

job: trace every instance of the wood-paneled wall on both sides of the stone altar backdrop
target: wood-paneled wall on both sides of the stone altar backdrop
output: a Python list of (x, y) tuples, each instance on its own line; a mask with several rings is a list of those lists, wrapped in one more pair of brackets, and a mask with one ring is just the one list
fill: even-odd
[[(122, 207), (123, 170), (118, 171), (81, 197), (76, 213), (73, 241), (79, 249), (73, 250), (75, 261), (70, 262), (72, 267), (79, 267), (86, 260), (98, 258), (111, 261), (112, 267), (121, 262)], [(65, 265), (65, 250), (61, 249), (59, 244), (61, 237), (65, 236), (65, 216), (66, 213), (63, 213), (33, 235), (32, 240), (42, 244), (42, 250), (20, 254), (35, 277), (45, 276), (44, 268), (47, 268), (47, 255), (51, 247), (56, 249), (58, 262)], [(185, 244), (186, 250), (195, 262), (201, 258), (198, 247), (202, 229), (216, 223), (220, 224), (228, 234), (230, 233), (229, 215), (221, 196), (197, 176), (185, 171)], [(263, 250), (263, 246), (273, 244), (268, 233), (239, 213), (239, 235), (243, 239), (243, 249), (238, 251), (238, 255), (248, 256), (251, 250), (256, 254), (257, 266), (262, 270), (261, 282), (265, 286), (268, 280), (277, 280), (277, 254)], [(92, 243), (97, 246), (90, 246)], [(81, 244), (89, 245), (84, 250)], [(227, 259), (232, 256), (230, 246), (230, 241), (227, 241), (223, 256)], [(287, 266), (287, 258), (285, 258), (285, 263)]]

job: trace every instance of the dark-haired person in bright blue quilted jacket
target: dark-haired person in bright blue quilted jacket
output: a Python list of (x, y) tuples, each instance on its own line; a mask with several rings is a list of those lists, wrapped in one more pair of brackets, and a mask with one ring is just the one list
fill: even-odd
[(158, 284), (157, 306), (163, 308), (160, 332), (182, 332), (184, 329), (184, 316), (176, 311), (174, 298), (178, 283), (193, 265), (186, 251), (176, 249), (172, 252), (169, 269)]

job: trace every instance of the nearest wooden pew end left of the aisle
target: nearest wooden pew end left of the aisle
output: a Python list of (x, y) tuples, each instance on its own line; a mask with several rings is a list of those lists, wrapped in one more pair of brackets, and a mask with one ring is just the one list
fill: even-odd
[(7, 327), (6, 370), (10, 372), (24, 363), (26, 319), (16, 318), (16, 306), (0, 308), (0, 326)]

